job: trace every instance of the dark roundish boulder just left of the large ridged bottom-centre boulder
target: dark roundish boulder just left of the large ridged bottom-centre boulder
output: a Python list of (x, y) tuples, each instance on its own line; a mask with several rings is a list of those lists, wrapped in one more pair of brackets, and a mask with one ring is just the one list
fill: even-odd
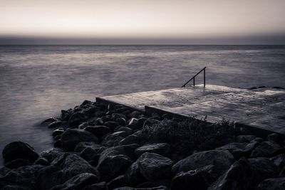
[(98, 169), (103, 181), (110, 181), (114, 177), (124, 174), (130, 164), (132, 164), (132, 160), (122, 154), (105, 156), (99, 159), (96, 169)]

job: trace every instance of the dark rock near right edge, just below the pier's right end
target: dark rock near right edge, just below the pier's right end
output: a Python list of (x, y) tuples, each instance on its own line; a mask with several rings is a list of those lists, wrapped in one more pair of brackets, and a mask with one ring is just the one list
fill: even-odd
[(279, 149), (279, 144), (272, 141), (262, 142), (250, 155), (250, 157), (270, 157), (271, 153)]

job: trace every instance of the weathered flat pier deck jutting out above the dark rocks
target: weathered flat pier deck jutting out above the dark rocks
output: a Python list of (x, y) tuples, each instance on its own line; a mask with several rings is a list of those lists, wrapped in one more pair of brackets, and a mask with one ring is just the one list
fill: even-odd
[(130, 93), (98, 97), (96, 102), (118, 103), (146, 112), (170, 112), (217, 122), (225, 118), (237, 125), (285, 135), (285, 90), (254, 90), (220, 85)]

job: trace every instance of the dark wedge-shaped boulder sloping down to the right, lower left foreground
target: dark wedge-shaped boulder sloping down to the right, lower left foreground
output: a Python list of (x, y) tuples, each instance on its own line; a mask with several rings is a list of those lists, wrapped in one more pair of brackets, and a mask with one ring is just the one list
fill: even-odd
[(63, 171), (64, 181), (83, 173), (90, 173), (94, 174), (95, 176), (99, 176), (98, 171), (93, 166), (91, 166), (81, 157), (78, 157), (76, 154), (68, 155), (61, 164), (61, 168)]

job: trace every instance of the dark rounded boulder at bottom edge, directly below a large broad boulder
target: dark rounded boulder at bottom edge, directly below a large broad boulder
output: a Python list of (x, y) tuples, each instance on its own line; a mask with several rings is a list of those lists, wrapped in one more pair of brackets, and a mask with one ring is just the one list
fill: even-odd
[(208, 186), (209, 184), (204, 180), (204, 176), (199, 170), (182, 171), (171, 182), (172, 190), (203, 190), (207, 189)]

